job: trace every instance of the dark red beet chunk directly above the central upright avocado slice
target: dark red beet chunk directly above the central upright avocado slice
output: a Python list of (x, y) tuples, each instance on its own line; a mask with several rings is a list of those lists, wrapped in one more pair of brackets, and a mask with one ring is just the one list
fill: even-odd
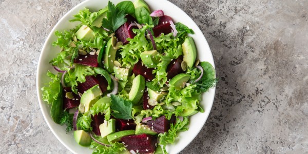
[(153, 80), (153, 68), (147, 68), (141, 61), (134, 65), (132, 72), (137, 75), (142, 75), (145, 80)]

